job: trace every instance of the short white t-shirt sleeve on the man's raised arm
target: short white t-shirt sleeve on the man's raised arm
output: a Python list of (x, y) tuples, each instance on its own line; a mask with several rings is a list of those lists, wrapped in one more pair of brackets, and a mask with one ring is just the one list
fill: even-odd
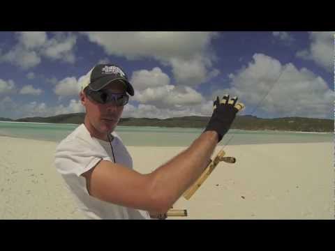
[(54, 155), (54, 165), (60, 174), (80, 176), (103, 159), (93, 146), (84, 140), (61, 142)]

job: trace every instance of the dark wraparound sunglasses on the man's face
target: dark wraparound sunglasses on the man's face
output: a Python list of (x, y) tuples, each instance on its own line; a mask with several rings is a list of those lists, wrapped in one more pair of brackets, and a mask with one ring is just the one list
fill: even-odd
[(101, 90), (101, 91), (92, 91), (91, 89), (87, 88), (85, 93), (89, 98), (92, 100), (100, 103), (100, 104), (107, 104), (113, 102), (114, 105), (117, 106), (124, 106), (128, 103), (129, 96), (126, 93), (113, 93), (110, 90)]

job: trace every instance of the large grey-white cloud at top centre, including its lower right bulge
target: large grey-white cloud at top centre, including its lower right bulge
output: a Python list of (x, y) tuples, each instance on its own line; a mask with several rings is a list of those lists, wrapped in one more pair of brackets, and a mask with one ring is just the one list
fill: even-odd
[(211, 40), (216, 32), (84, 32), (109, 55), (126, 59), (153, 58), (172, 66), (176, 84), (197, 86), (218, 74), (211, 70), (216, 59)]

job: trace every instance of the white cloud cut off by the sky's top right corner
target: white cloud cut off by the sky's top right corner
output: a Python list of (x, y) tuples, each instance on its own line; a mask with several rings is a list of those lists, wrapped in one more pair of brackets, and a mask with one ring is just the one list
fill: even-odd
[(297, 57), (313, 60), (328, 72), (332, 72), (334, 70), (334, 33), (334, 31), (310, 32), (310, 47), (308, 50), (297, 52)]

